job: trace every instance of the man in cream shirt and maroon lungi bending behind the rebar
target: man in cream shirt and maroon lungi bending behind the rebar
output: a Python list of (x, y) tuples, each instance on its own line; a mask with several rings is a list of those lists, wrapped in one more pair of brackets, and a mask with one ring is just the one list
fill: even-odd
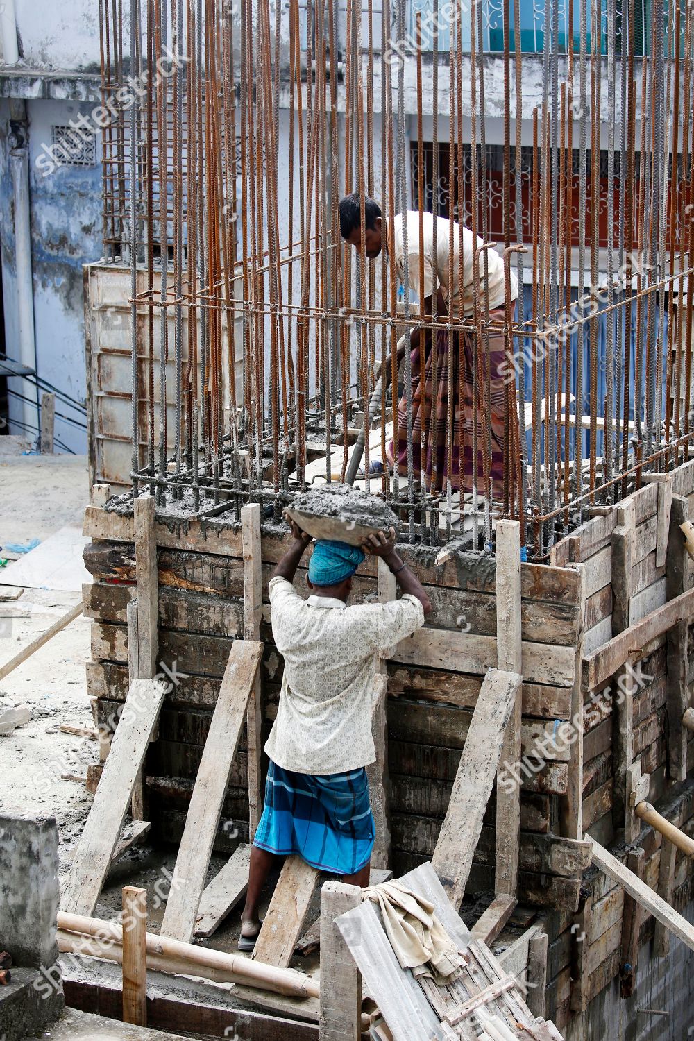
[[(372, 199), (364, 198), (364, 252), (368, 259), (375, 259), (381, 253), (386, 239), (387, 257), (394, 264), (399, 280), (405, 283), (405, 245), (403, 214), (393, 220), (392, 243), (387, 240), (387, 227), (381, 219), (381, 207)], [(434, 253), (434, 221), (436, 221), (436, 253)], [(504, 323), (506, 322), (505, 290), (506, 277), (504, 260), (494, 250), (486, 250), (480, 256), (480, 277), (474, 277), (474, 250), (483, 245), (480, 237), (475, 240), (468, 228), (453, 225), (453, 294), (448, 285), (449, 266), (449, 232), (447, 218), (434, 218), (433, 213), (423, 214), (423, 236), (419, 233), (419, 211), (407, 212), (407, 260), (408, 281), (419, 294), (423, 278), (423, 301), (421, 310), (428, 315), (434, 313), (434, 294), (436, 294), (436, 318), (439, 322), (447, 322), (451, 315), (454, 322), (461, 315), (468, 325), (473, 316), (474, 296), (480, 303), (483, 325), (489, 320), (489, 334), (483, 335), (482, 350), (478, 358), (482, 359), (483, 371), (478, 379), (478, 406), (474, 407), (473, 358), (477, 348), (477, 336), (471, 329), (454, 331), (451, 335), (446, 329), (436, 333), (436, 351), (432, 350), (432, 336), (427, 333), (425, 339), (423, 364), (421, 356), (420, 328), (411, 334), (412, 362), (412, 459), (414, 476), (423, 480), (427, 490), (441, 490), (446, 487), (448, 476), (447, 431), (451, 423), (451, 483), (454, 490), (471, 491), (473, 484), (472, 434), (473, 422), (478, 424), (478, 490), (486, 491), (485, 481), (485, 445), (487, 431), (491, 438), (487, 460), (489, 461), (489, 478), (492, 489), (504, 480), (504, 445), (506, 416), (509, 423), (516, 425), (515, 445), (519, 443), (515, 410), (507, 408), (507, 366)], [(340, 202), (340, 233), (357, 251), (361, 249), (361, 196), (358, 193), (345, 196)], [(460, 243), (462, 234), (462, 272), (460, 270)], [(487, 279), (489, 288), (489, 311), (486, 310), (484, 294), (484, 272), (487, 258)], [(515, 301), (518, 296), (518, 283), (511, 274), (511, 301), (515, 311)], [(513, 314), (509, 315), (509, 321)], [(462, 347), (462, 350), (461, 350)], [(399, 342), (397, 360), (405, 353), (405, 338)], [(489, 371), (490, 415), (485, 424), (484, 392)], [(453, 401), (448, 400), (448, 388), (453, 388)], [(462, 395), (462, 400), (461, 400)], [(451, 421), (448, 412), (451, 409)], [(461, 416), (462, 413), (462, 416)], [(462, 420), (462, 430), (461, 430)], [(388, 462), (394, 465), (397, 458), (397, 469), (407, 474), (407, 428), (408, 408), (407, 395), (403, 396), (397, 410), (396, 446), (389, 446)], [(422, 428), (423, 434), (422, 436)], [(462, 436), (461, 436), (462, 435)], [(422, 465), (422, 441), (425, 443), (425, 461)], [(462, 481), (460, 477), (460, 449), (463, 447)], [(510, 461), (510, 460), (509, 460)], [(422, 474), (423, 469), (423, 474)], [(500, 498), (499, 492), (494, 498)]]

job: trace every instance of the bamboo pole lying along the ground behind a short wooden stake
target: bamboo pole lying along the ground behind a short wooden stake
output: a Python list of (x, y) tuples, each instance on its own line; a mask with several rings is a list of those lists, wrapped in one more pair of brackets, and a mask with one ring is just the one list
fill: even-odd
[[(110, 960), (122, 961), (123, 928), (118, 922), (59, 911), (58, 930), (58, 939), (66, 951), (92, 954), (93, 957), (108, 957), (108, 954), (102, 951), (110, 951)], [(97, 943), (89, 944), (86, 941), (85, 945), (85, 937), (93, 937)], [(201, 969), (214, 969), (223, 973), (230, 983), (239, 983), (247, 987), (272, 990), (290, 997), (319, 995), (316, 981), (292, 969), (280, 969), (274, 965), (251, 961), (249, 958), (240, 958), (238, 955), (227, 955), (222, 950), (197, 947), (191, 943), (182, 943), (180, 940), (147, 933), (148, 966), (156, 967), (155, 960), (160, 956), (168, 959), (172, 965), (178, 966), (176, 970), (181, 973), (204, 976), (206, 973), (200, 971)]]

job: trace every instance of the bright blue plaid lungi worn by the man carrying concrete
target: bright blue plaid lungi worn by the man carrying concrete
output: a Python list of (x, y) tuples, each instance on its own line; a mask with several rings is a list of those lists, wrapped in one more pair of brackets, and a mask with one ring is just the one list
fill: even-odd
[(255, 845), (280, 856), (298, 854), (319, 871), (355, 874), (368, 863), (375, 837), (363, 766), (314, 777), (271, 759)]

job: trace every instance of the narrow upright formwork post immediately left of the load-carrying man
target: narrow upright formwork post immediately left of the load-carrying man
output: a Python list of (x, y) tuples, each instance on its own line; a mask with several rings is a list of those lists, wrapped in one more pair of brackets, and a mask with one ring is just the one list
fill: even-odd
[[(251, 503), (241, 507), (241, 538), (243, 543), (243, 636), (257, 640), (262, 617), (262, 572), (260, 551), (260, 506)], [(250, 840), (256, 833), (262, 813), (262, 699), (260, 670), (249, 702), (247, 716), (249, 761)]]

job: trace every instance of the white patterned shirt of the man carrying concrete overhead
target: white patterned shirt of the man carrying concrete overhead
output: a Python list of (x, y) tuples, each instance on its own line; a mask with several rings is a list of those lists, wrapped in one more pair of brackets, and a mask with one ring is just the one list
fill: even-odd
[(352, 607), (330, 596), (304, 600), (283, 578), (272, 579), (268, 589), (284, 676), (265, 752), (297, 773), (367, 766), (376, 759), (371, 697), (379, 652), (423, 625), (421, 604), (410, 594)]

